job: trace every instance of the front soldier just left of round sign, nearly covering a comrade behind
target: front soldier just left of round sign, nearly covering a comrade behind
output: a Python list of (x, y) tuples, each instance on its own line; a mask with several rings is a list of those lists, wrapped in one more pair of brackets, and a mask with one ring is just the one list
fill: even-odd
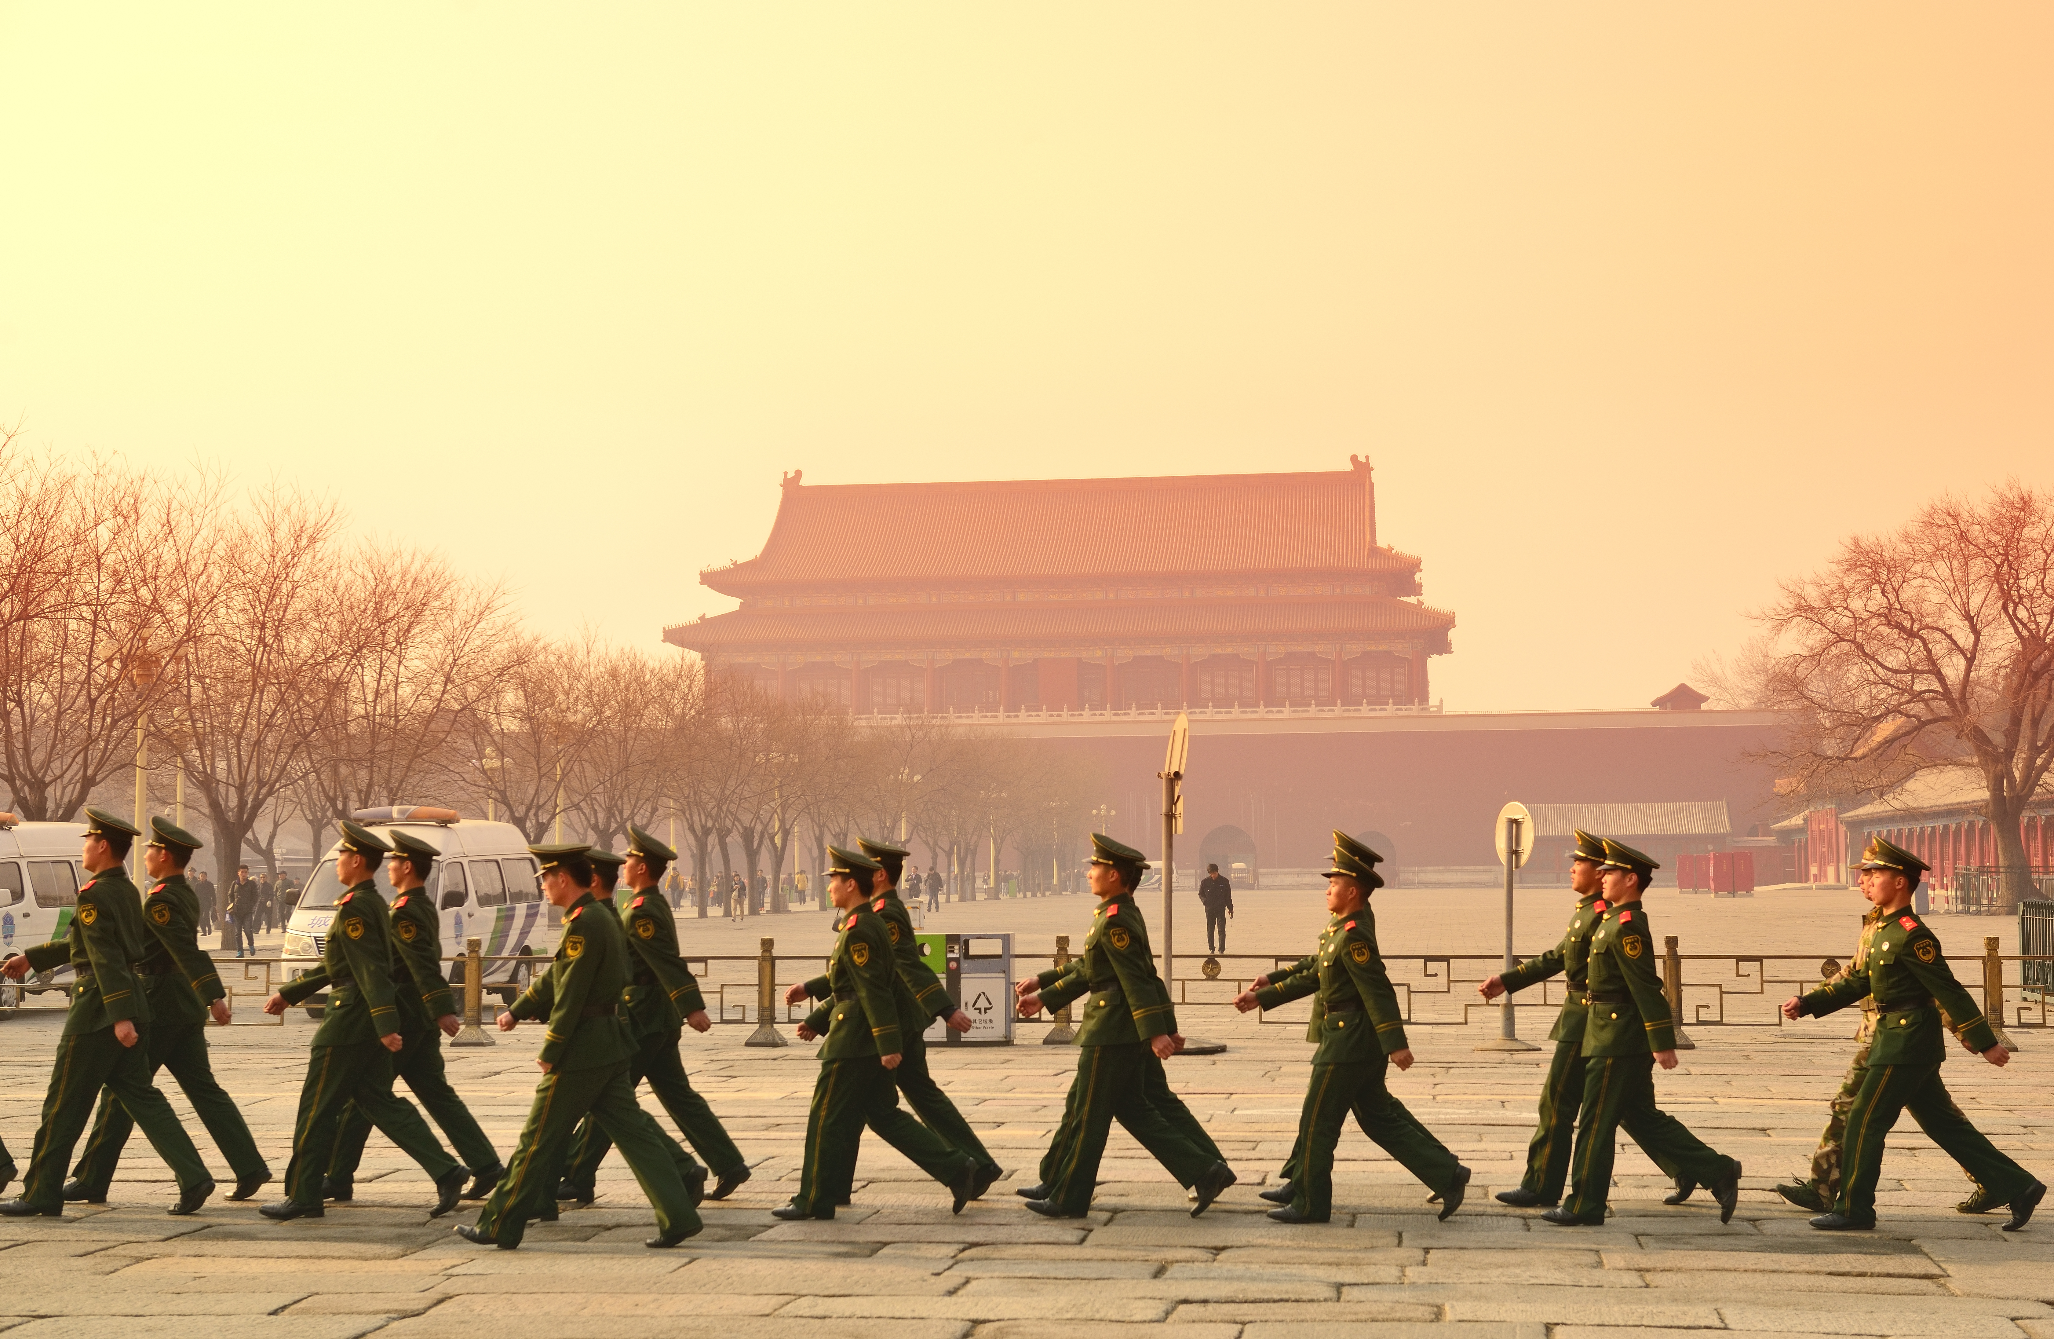
[(1269, 1210), (1269, 1218), (1333, 1218), (1333, 1148), (1354, 1111), (1364, 1132), (1440, 1197), (1440, 1218), (1446, 1220), (1462, 1208), (1471, 1173), (1384, 1086), (1389, 1066), (1409, 1070), (1413, 1054), (1405, 1045), (1399, 998), (1370, 914), (1370, 893), (1384, 885), (1376, 873), (1382, 856), (1343, 832), (1335, 832), (1333, 842), (1333, 867), (1327, 871), (1327, 912), (1333, 920), (1319, 936), (1319, 953), (1282, 982), (1234, 998), (1234, 1008), (1249, 1012), (1315, 996), (1308, 1039), (1319, 1049), (1313, 1051), (1313, 1082), (1298, 1117), (1292, 1199)]

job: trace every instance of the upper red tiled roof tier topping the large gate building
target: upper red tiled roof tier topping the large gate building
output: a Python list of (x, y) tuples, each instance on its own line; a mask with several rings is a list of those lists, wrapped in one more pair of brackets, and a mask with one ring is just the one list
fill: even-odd
[[(1349, 458), (1354, 460), (1354, 458)], [(850, 550), (854, 530), (879, 544)], [(1411, 573), (1376, 546), (1368, 462), (1306, 474), (803, 485), (764, 550), (700, 573), (729, 596), (791, 585), (1245, 573)]]

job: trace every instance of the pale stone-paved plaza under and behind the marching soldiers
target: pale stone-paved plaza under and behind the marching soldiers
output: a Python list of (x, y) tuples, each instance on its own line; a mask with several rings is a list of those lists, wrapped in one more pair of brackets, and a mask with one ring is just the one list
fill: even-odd
[[(1567, 895), (1520, 897), (1522, 939), (1532, 900), (1532, 947), (1540, 947)], [(1649, 910), (1658, 930), (1686, 916), (1723, 916), (1732, 926), (1725, 939), (1760, 939), (1756, 951), (1795, 936), (1801, 943), (1791, 951), (1844, 953), (1840, 941), (1853, 936), (1851, 910), (1859, 910), (1851, 897), (1805, 893), (1684, 912), (1680, 895), (1668, 893)], [(1251, 951), (1292, 951), (1302, 945), (1300, 930), (1321, 920), (1317, 910), (1304, 910), (1308, 900), (1237, 893), (1237, 934), (1247, 930)], [(1393, 924), (1386, 943), (1405, 941), (1409, 951), (1434, 943), (1436, 922), (1452, 924), (1436, 914), (1450, 906), (1440, 893), (1380, 902)], [(1491, 906), (1485, 893), (1454, 904), (1479, 912), (1465, 920), (1471, 926)], [(1023, 939), (1062, 928), (1080, 943), (1087, 918), (1085, 900), (1056, 897), (951, 906), (930, 924), (1009, 924)], [(781, 936), (781, 945), (820, 949), (826, 934), (815, 920), (824, 922), (793, 914), (739, 926), (684, 920), (680, 928), (705, 953), (754, 949), (764, 932)], [(1947, 918), (1939, 928), (1953, 945), (1972, 932), (1999, 932), (2001, 922)], [(1440, 943), (1479, 951), (1489, 949), (1489, 934), (1467, 934), (1481, 936), (1481, 945), (1456, 945), (1446, 934)], [(1185, 932), (1179, 941), (1189, 943)], [(255, 1004), (253, 996), (240, 998), (244, 1017)], [(1528, 1035), (1545, 1031), (1532, 1027), (1536, 1010), (1520, 1017)], [(60, 1025), (60, 1010), (47, 1004), (0, 1021), (0, 1134), (18, 1160), (33, 1142)], [(1273, 1183), (1290, 1148), (1310, 1049), (1300, 1029), (1216, 1008), (1189, 1010), (1185, 1027), (1228, 1045), (1222, 1056), (1177, 1058), (1171, 1080), (1241, 1175), (1241, 1185), (1200, 1220), (1117, 1127), (1089, 1220), (1048, 1222), (1019, 1206), (1011, 1191), (1033, 1179), (1074, 1064), (1072, 1049), (1039, 1045), (1041, 1031), (1025, 1029), (1015, 1047), (935, 1056), (937, 1076), (1011, 1173), (984, 1201), (951, 1218), (941, 1187), (865, 1140), (854, 1206), (834, 1222), (781, 1224), (768, 1210), (787, 1199), (799, 1171), (813, 1047), (750, 1049), (748, 1027), (717, 1027), (707, 1037), (686, 1035), (686, 1062), (756, 1164), (756, 1179), (727, 1203), (705, 1206), (705, 1234), (678, 1251), (641, 1245), (651, 1216), (618, 1158), (602, 1173), (598, 1203), (567, 1212), (561, 1224), (534, 1226), (520, 1251), (503, 1253), (452, 1236), (450, 1226), (468, 1220), (464, 1210), (429, 1222), (427, 1179), (380, 1138), (372, 1140), (355, 1206), (292, 1224), (259, 1218), (257, 1201), (222, 1199), (197, 1218), (166, 1218), (170, 1183), (136, 1140), (109, 1206), (74, 1206), (62, 1222), (0, 1220), (0, 1329), (8, 1339), (992, 1339), (1138, 1337), (1163, 1325), (1177, 1339), (1656, 1339), (1705, 1331), (2054, 1339), (2054, 1216), (2011, 1236), (1999, 1230), (2001, 1214), (1955, 1214), (1966, 1181), (1908, 1121), (1892, 1136), (1884, 1166), (1881, 1230), (1822, 1236), (1805, 1226), (1805, 1214), (1771, 1193), (1810, 1156), (1847, 1064), (1851, 1017), (1789, 1029), (1695, 1029), (1699, 1049), (1658, 1076), (1658, 1091), (1666, 1109), (1742, 1158), (1748, 1175), (1740, 1214), (1721, 1226), (1703, 1191), (1688, 1206), (1664, 1208), (1666, 1183), (1623, 1144), (1614, 1218), (1604, 1228), (1553, 1228), (1491, 1199), (1491, 1191), (1518, 1181), (1545, 1054), (1475, 1051), (1495, 1031), (1483, 1025), (1415, 1029), (1419, 1064), (1393, 1082), (1475, 1169), (1469, 1203), (1454, 1220), (1436, 1222), (1425, 1191), (1349, 1130), (1335, 1169), (1335, 1222), (1271, 1224), (1255, 1191)], [(238, 1023), (212, 1033), (222, 1078), (279, 1173), (312, 1031), (304, 1012), (294, 1012), (283, 1025)], [(1982, 1130), (2046, 1177), (2054, 1171), (2054, 1099), (2044, 1056), (2054, 1054), (2054, 1037), (2042, 1037), (2019, 1033), (2025, 1051), (2003, 1072), (1957, 1056), (1945, 1076)], [(526, 1115), (538, 1041), (540, 1031), (524, 1027), (489, 1049), (448, 1051), (454, 1082), (503, 1150)], [(166, 1091), (183, 1111), (175, 1086)], [(203, 1134), (199, 1144), (220, 1173)], [(259, 1201), (275, 1189), (267, 1187)]]

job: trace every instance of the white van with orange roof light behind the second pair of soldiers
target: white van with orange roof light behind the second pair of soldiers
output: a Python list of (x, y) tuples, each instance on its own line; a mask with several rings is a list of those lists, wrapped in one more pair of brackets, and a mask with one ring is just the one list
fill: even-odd
[[(534, 945), (544, 941), (548, 941), (544, 953), (555, 951), (557, 914), (542, 897), (542, 875), (528, 854), (528, 838), (514, 824), (466, 819), (454, 809), (427, 805), (357, 809), (349, 817), (386, 842), (394, 830), (405, 828), (407, 836), (442, 852), (427, 871), (427, 891), (435, 897), (444, 957), (460, 957), (466, 939), (479, 939), (485, 957), (532, 955)], [(286, 922), (288, 975), (318, 965), (329, 924), (335, 920), (335, 900), (349, 891), (335, 877), (337, 850), (339, 846), (329, 846), (314, 865)], [(398, 893), (384, 860), (378, 863), (376, 879), (378, 895), (390, 906)], [(464, 980), (464, 965), (450, 963), (446, 975), (458, 986)], [(526, 990), (530, 975), (532, 969), (522, 963), (485, 963), (479, 973), (485, 990), (497, 992), (509, 1004)], [(322, 1008), (327, 1008), (325, 994), (306, 1004), (306, 1012), (316, 1019)]]

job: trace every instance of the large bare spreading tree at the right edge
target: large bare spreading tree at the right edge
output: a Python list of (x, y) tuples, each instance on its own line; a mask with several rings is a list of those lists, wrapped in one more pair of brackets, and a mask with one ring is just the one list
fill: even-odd
[(2054, 497), (2017, 481), (1844, 540), (1783, 585), (1766, 700), (1810, 791), (1875, 793), (1937, 766), (1986, 787), (2005, 906), (2031, 895), (2023, 807), (2054, 762)]

